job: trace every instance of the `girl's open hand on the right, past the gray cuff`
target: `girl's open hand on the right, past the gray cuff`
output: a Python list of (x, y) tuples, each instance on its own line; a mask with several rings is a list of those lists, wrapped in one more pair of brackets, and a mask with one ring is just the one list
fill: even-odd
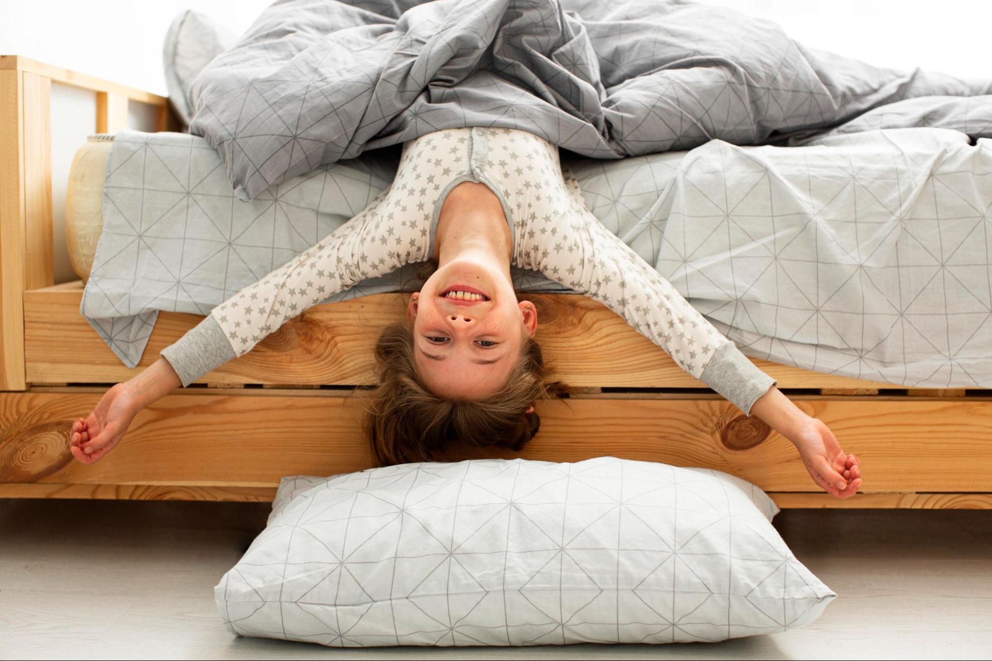
[(823, 491), (839, 499), (857, 493), (861, 486), (861, 462), (854, 455), (844, 454), (833, 432), (821, 420), (808, 418), (790, 438), (800, 451), (812, 481)]

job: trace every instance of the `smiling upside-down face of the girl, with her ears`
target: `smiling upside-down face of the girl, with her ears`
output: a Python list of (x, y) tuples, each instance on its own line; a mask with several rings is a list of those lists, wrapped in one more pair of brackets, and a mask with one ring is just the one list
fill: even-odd
[(506, 384), (538, 312), (517, 302), (494, 265), (454, 260), (434, 272), (407, 309), (417, 374), (434, 394), (481, 399)]

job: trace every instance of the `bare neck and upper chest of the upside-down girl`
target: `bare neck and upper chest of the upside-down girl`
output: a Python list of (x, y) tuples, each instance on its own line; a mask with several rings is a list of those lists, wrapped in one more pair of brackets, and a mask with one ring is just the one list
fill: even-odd
[(513, 241), (503, 205), (489, 187), (463, 181), (452, 188), (437, 216), (434, 234), (437, 266), (470, 257), (499, 266), (509, 278), (512, 252)]

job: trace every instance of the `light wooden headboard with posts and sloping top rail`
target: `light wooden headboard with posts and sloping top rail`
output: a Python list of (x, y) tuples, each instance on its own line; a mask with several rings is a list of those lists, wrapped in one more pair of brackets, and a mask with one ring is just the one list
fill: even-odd
[(127, 126), (128, 103), (168, 99), (18, 55), (0, 55), (0, 390), (24, 390), (24, 292), (55, 283), (52, 218), (52, 83), (96, 93), (97, 133)]

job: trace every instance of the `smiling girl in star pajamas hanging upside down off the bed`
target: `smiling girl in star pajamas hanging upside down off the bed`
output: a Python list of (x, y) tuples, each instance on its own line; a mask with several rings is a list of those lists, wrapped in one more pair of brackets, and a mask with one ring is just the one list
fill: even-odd
[(437, 131), (406, 143), (393, 183), (357, 216), (210, 311), (163, 359), (113, 386), (70, 431), (72, 455), (99, 460), (134, 415), (241, 356), (288, 319), (367, 277), (434, 260), (407, 321), (376, 346), (380, 386), (368, 435), (384, 464), (430, 460), (451, 439), (520, 449), (537, 432), (545, 383), (537, 306), (510, 265), (533, 269), (622, 315), (686, 373), (797, 446), (836, 497), (861, 485), (820, 420), (800, 410), (682, 295), (585, 207), (558, 148), (513, 129)]

